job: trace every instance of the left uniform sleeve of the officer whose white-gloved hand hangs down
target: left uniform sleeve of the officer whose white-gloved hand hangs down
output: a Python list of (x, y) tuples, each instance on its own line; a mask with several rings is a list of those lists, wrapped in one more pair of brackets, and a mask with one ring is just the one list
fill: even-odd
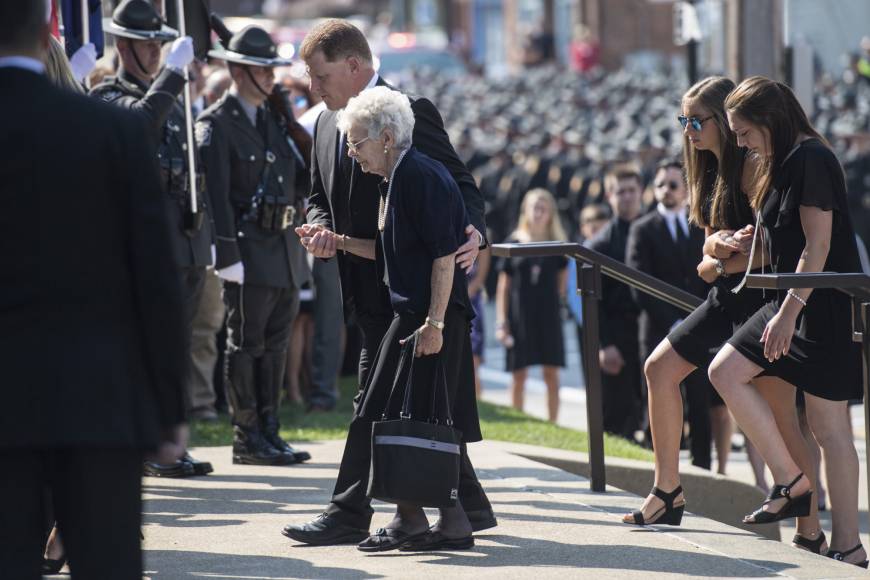
[(196, 144), (214, 223), (215, 269), (222, 270), (242, 260), (236, 241), (236, 217), (230, 203), (230, 144), (226, 130), (213, 117), (197, 121)]

